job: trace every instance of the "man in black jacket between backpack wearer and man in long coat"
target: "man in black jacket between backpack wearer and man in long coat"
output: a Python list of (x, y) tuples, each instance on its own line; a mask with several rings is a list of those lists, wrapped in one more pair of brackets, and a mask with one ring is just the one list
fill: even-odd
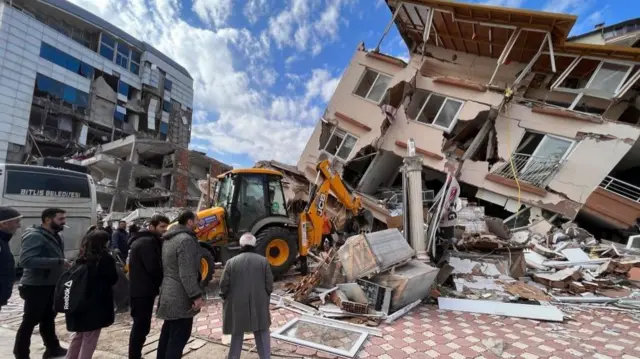
[(162, 284), (162, 235), (169, 219), (156, 214), (149, 227), (129, 239), (129, 295), (133, 327), (129, 337), (129, 359), (140, 359), (151, 330), (153, 303)]

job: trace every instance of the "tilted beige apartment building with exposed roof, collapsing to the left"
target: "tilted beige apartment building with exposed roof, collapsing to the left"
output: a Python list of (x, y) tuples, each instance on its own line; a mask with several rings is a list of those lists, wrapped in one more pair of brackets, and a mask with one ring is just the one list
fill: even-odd
[(380, 43), (357, 47), (297, 164), (310, 181), (315, 164), (332, 159), (389, 223), (413, 139), (425, 207), (451, 174), (490, 215), (560, 217), (602, 231), (634, 223), (640, 49), (571, 42), (573, 15), (444, 0), (386, 4), (392, 20), (380, 42), (396, 26), (410, 60), (380, 53)]

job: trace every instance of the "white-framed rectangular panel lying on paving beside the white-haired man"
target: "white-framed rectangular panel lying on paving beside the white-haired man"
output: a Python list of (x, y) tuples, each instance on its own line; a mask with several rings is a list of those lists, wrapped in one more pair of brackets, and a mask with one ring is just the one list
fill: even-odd
[(271, 333), (278, 340), (353, 358), (369, 334), (354, 328), (345, 328), (316, 320), (296, 318)]

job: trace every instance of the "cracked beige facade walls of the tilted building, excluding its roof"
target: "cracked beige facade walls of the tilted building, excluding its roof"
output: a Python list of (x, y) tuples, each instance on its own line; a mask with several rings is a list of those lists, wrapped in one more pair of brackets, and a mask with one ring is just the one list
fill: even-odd
[[(309, 180), (315, 178), (315, 164), (323, 158), (334, 159), (336, 167), (344, 169), (355, 157), (363, 161), (369, 152), (360, 151), (369, 146), (378, 152), (404, 157), (411, 138), (423, 156), (425, 167), (457, 175), (461, 182), (477, 188), (477, 198), (500, 204), (510, 212), (520, 204), (573, 219), (640, 137), (640, 128), (631, 124), (596, 118), (599, 116), (580, 117), (584, 113), (574, 118), (567, 116), (566, 112), (579, 114), (577, 111), (544, 113), (532, 108), (535, 101), (514, 100), (503, 111), (496, 111), (492, 120), (495, 161), (463, 159), (447, 148), (450, 140), (463, 132), (465, 126), (500, 108), (505, 100), (504, 92), (478, 85), (489, 83), (496, 60), (431, 45), (427, 48), (427, 56), (413, 54), (407, 64), (358, 47), (327, 105), (323, 121), (318, 121), (299, 159), (298, 169)], [(494, 84), (503, 89), (512, 86), (526, 65), (517, 62), (503, 65)], [(404, 98), (407, 101), (401, 102), (394, 120), (385, 127), (381, 100), (388, 89), (401, 82), (413, 82), (415, 92), (409, 99)], [(606, 112), (607, 119), (617, 119), (622, 110), (611, 106)], [(534, 150), (522, 161), (518, 152), (531, 141), (538, 141), (538, 152)], [(543, 144), (548, 146), (540, 150)], [(547, 150), (562, 154), (545, 153)], [(511, 172), (500, 173), (507, 169), (509, 158), (514, 159), (521, 176), (520, 189), (509, 179)], [(532, 162), (538, 158), (553, 163)], [(517, 163), (518, 160), (522, 163)], [(363, 184), (369, 180), (367, 176), (380, 173), (372, 168), (381, 162), (384, 161), (374, 159), (366, 171), (362, 170), (362, 178), (354, 184), (357, 190), (366, 187)], [(396, 170), (400, 164), (395, 162), (396, 167), (384, 171)], [(542, 170), (533, 171), (532, 166), (540, 166)], [(534, 172), (544, 179), (536, 182), (535, 176), (525, 176)]]

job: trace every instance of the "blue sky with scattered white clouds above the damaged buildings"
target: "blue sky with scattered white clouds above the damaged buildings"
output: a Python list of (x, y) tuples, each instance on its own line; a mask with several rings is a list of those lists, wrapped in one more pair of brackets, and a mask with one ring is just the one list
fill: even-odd
[[(358, 43), (391, 18), (383, 0), (71, 0), (194, 77), (191, 148), (235, 167), (295, 164)], [(572, 35), (640, 17), (638, 0), (484, 0), (578, 15)], [(395, 28), (381, 46), (408, 57)]]

